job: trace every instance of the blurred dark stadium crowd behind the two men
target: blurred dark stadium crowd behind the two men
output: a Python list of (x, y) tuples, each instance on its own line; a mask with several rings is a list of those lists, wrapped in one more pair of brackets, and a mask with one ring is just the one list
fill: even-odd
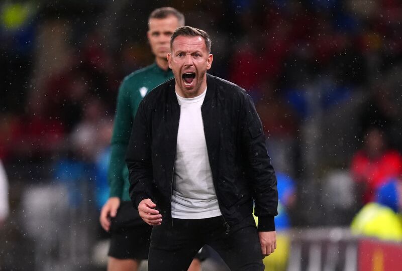
[(349, 236), (361, 205), (348, 168), (367, 127), (381, 127), (402, 152), (397, 0), (3, 1), (2, 269), (98, 267), (117, 89), (152, 62), (147, 16), (162, 6), (208, 31), (210, 72), (253, 97), (272, 163), (294, 183), (286, 208), (295, 242), (306, 228)]

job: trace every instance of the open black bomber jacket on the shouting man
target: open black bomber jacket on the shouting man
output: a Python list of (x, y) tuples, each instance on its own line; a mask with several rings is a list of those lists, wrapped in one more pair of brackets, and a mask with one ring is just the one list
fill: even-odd
[[(150, 198), (171, 219), (171, 196), (180, 106), (174, 78), (157, 86), (141, 101), (133, 123), (126, 162), (129, 194), (138, 208)], [(275, 230), (278, 193), (261, 120), (251, 97), (239, 86), (207, 74), (201, 108), (208, 158), (227, 230), (253, 211), (259, 231)]]

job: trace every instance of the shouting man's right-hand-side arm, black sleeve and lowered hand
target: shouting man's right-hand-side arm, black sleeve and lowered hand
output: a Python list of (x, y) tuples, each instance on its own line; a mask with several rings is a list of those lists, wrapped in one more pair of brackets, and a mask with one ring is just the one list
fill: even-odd
[(267, 153), (262, 123), (249, 95), (245, 95), (241, 119), (242, 142), (253, 189), (254, 213), (258, 217), (261, 252), (266, 256), (276, 248), (274, 217), (278, 214), (277, 181)]

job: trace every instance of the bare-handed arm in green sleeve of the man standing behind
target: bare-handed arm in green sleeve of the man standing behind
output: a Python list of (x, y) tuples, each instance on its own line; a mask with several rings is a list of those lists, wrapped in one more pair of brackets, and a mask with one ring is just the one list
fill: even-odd
[(119, 88), (111, 141), (111, 160), (108, 170), (110, 194), (108, 201), (100, 211), (99, 217), (100, 224), (106, 231), (110, 230), (110, 219), (116, 216), (123, 196), (125, 182), (123, 170), (124, 167), (126, 167), (125, 156), (132, 127), (132, 108), (130, 101), (126, 81), (123, 81)]

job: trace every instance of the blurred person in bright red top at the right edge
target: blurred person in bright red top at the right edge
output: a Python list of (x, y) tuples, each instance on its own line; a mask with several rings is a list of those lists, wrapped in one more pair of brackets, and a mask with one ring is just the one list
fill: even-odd
[(362, 189), (363, 203), (367, 203), (373, 201), (373, 191), (402, 174), (402, 156), (395, 150), (386, 149), (384, 134), (371, 127), (365, 134), (363, 149), (352, 159), (350, 171)]

